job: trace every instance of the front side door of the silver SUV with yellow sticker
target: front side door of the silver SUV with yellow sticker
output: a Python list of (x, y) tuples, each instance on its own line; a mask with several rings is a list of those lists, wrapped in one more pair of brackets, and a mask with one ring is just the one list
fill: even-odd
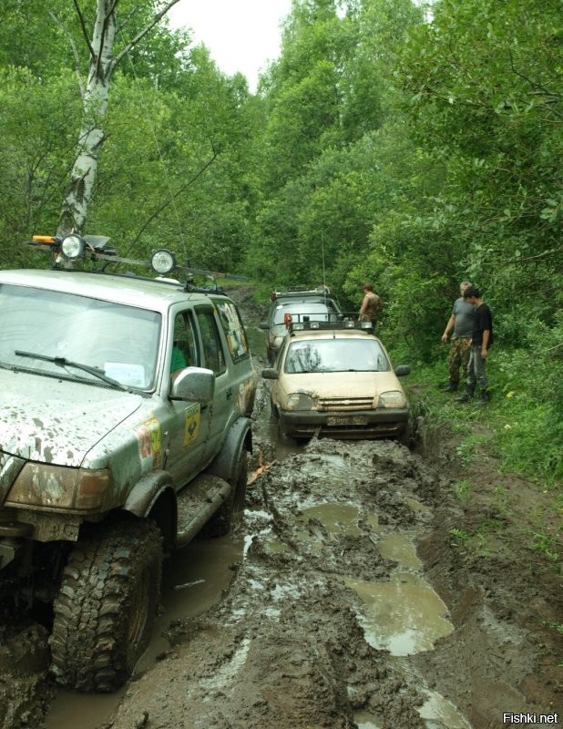
[[(197, 320), (191, 309), (175, 313), (170, 325), (170, 384), (185, 366), (202, 366)], [(207, 465), (211, 406), (206, 403), (169, 401), (171, 416), (166, 467), (181, 488)]]

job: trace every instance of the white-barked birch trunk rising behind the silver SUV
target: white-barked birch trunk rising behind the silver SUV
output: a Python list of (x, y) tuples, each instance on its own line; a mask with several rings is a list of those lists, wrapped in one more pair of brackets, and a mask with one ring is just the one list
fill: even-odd
[[(169, 12), (172, 5), (179, 2), (179, 0), (164, 0), (160, 4), (159, 10), (152, 15), (142, 30), (116, 53), (117, 9), (120, 0), (95, 1), (96, 18), (90, 34), (85, 16), (78, 5), (78, 0), (73, 0), (82, 28), (82, 35), (87, 43), (89, 67), (86, 81), (81, 77), (78, 70), (83, 118), (77, 144), (77, 157), (65, 192), (58, 223), (58, 235), (65, 235), (70, 231), (81, 231), (86, 221), (88, 204), (92, 199), (97, 177), (98, 160), (106, 139), (104, 118), (107, 112), (111, 77), (119, 61), (159, 23), (159, 20)], [(138, 0), (138, 6), (142, 5), (143, 2), (144, 0)], [(78, 61), (77, 48), (72, 38), (71, 46)]]

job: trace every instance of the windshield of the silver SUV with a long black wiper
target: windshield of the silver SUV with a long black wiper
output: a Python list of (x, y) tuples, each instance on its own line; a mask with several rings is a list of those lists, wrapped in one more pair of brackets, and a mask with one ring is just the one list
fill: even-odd
[[(121, 385), (148, 389), (154, 383), (157, 312), (9, 284), (0, 284), (0, 312), (5, 365), (97, 384), (104, 381), (88, 368)], [(63, 359), (76, 366), (62, 369)]]

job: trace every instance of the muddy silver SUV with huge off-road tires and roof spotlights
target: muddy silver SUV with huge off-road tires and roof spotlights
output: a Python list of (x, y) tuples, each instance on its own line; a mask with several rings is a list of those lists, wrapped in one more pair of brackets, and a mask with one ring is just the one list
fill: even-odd
[(112, 691), (163, 556), (241, 506), (256, 376), (226, 295), (67, 271), (84, 241), (48, 246), (63, 269), (0, 272), (0, 596), (52, 604), (59, 683)]

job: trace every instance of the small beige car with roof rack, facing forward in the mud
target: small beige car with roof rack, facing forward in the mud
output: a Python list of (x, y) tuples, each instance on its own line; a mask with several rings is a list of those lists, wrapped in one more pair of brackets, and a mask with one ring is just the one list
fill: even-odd
[(370, 322), (293, 324), (273, 367), (271, 407), (282, 432), (297, 439), (406, 438), (409, 406)]

